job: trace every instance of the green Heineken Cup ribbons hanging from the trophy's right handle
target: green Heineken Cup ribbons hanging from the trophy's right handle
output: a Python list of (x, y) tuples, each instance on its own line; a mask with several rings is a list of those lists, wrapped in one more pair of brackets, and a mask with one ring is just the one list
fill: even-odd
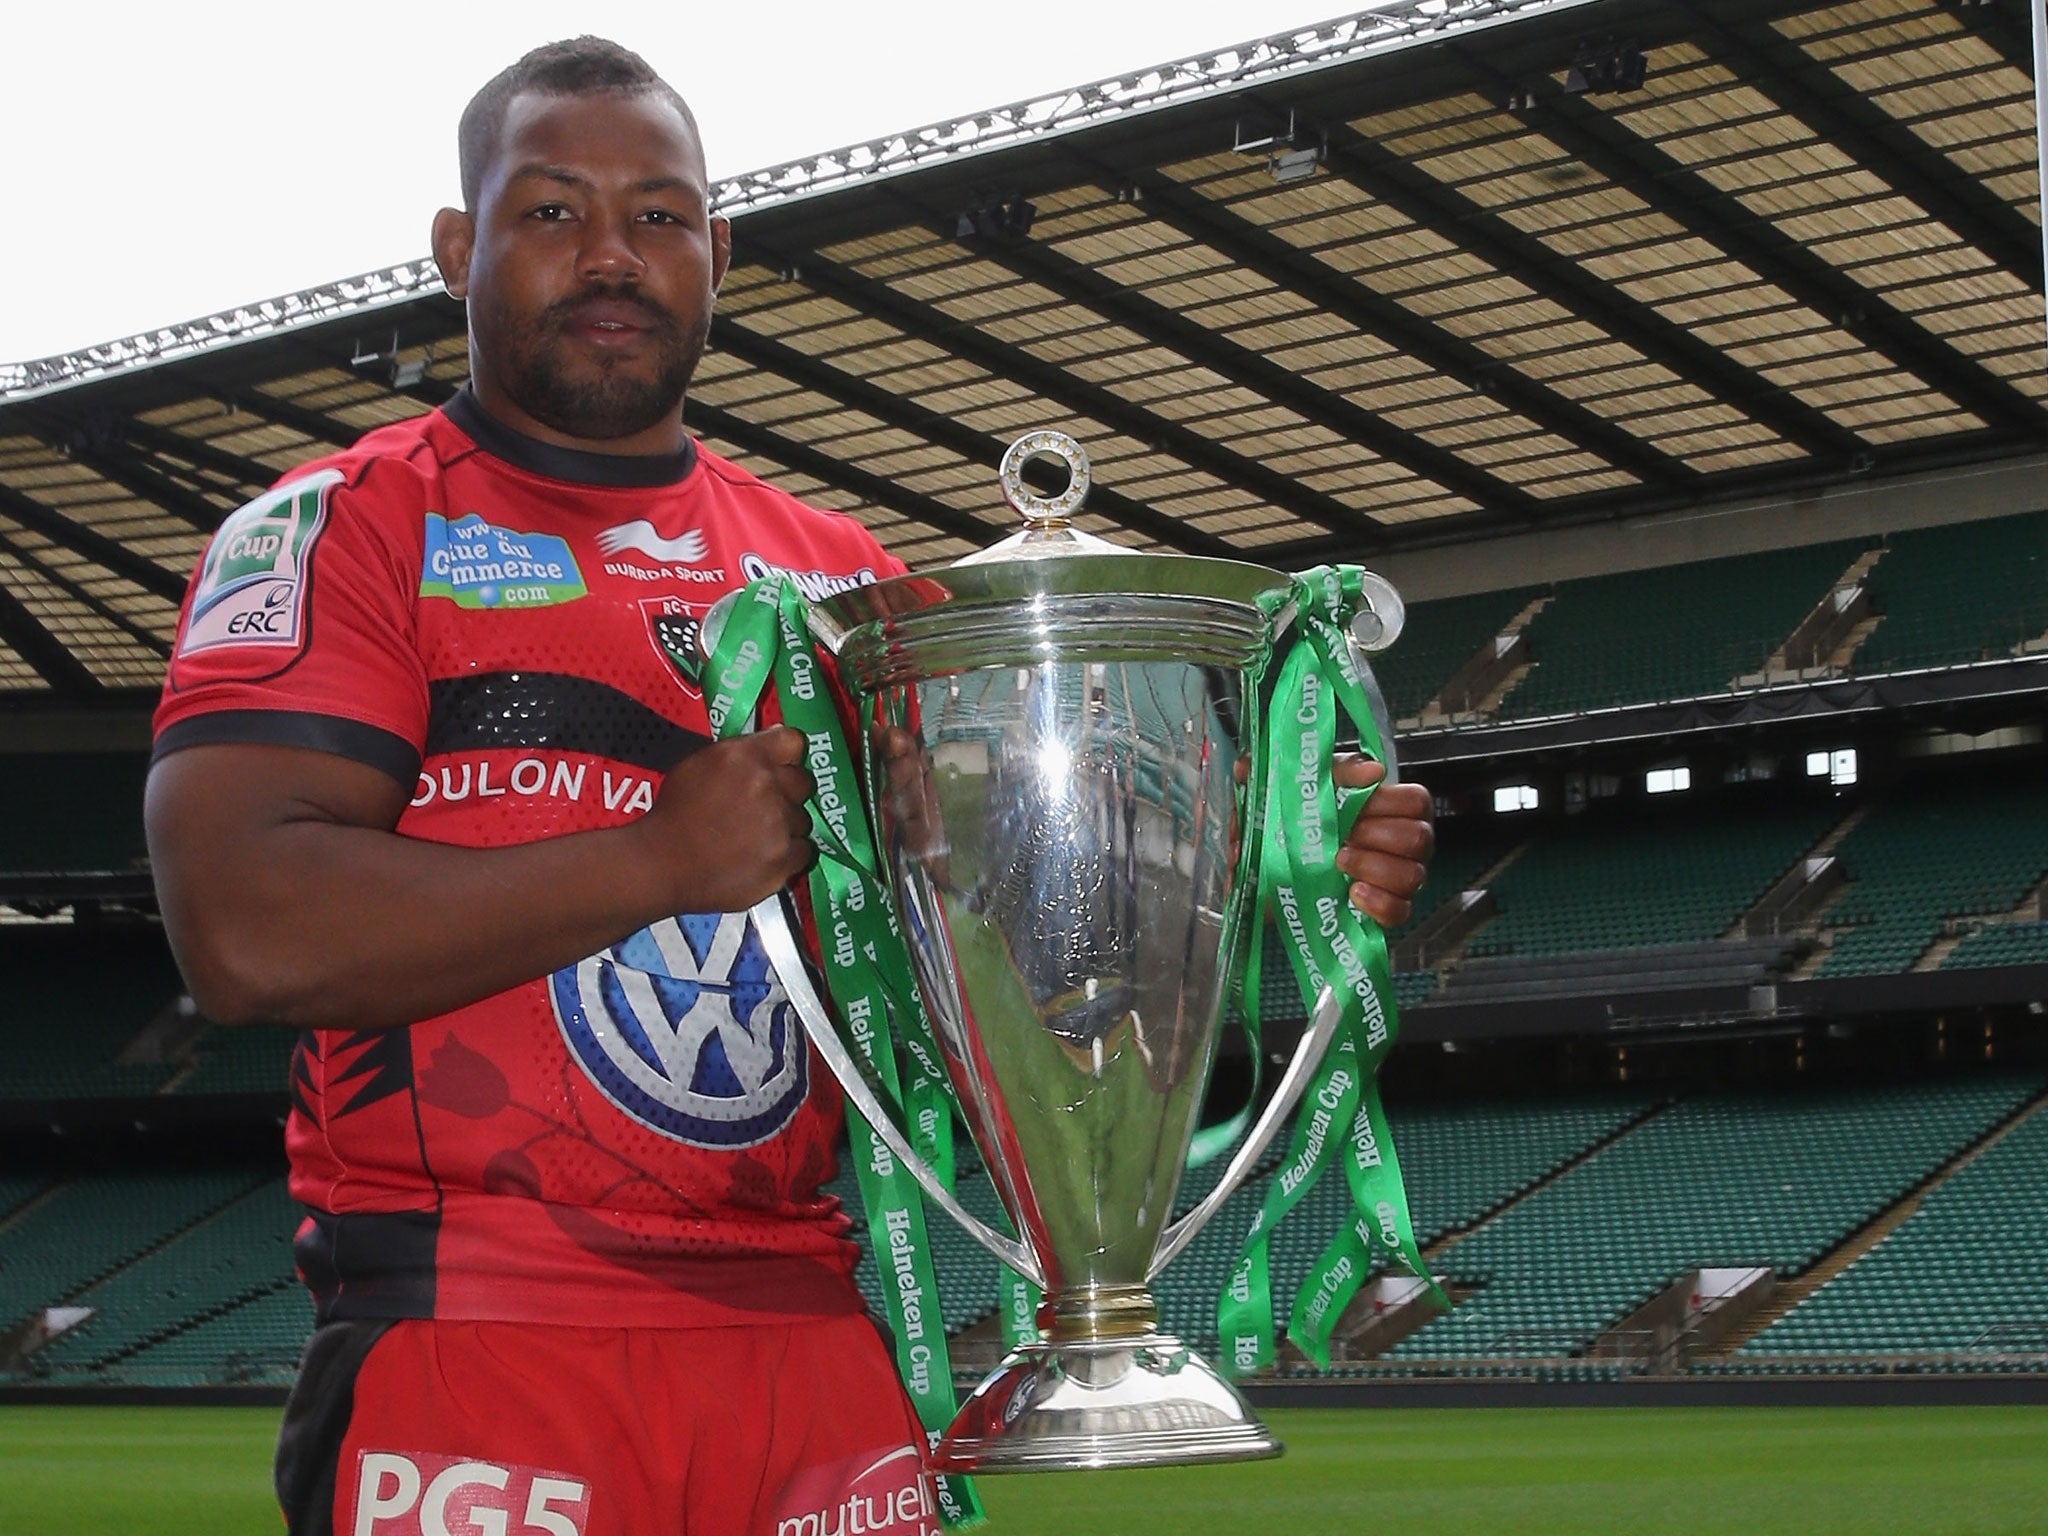
[[(1303, 1096), (1286, 1159), (1217, 1303), (1223, 1366), (1231, 1374), (1274, 1360), (1272, 1233), (1333, 1159), (1343, 1163), (1352, 1212), (1294, 1296), (1288, 1319), (1294, 1346), (1317, 1366), (1329, 1366), (1329, 1335), (1376, 1253), (1430, 1278), (1378, 1094), (1378, 1069), (1397, 1034), (1386, 934), (1352, 905), (1350, 879), (1335, 864), (1343, 836), (1372, 795), (1337, 791), (1331, 782), (1337, 717), (1356, 727), (1368, 758), (1386, 760), (1343, 633), (1362, 602), (1360, 571), (1327, 565), (1305, 571), (1294, 578), (1292, 596), (1296, 641), (1280, 666), (1245, 793), (1247, 809), (1257, 809), (1260, 844), (1249, 946), (1260, 944), (1266, 913), (1278, 913), (1305, 1004), (1313, 1010), (1327, 985), (1341, 1012), (1331, 1049)], [(1245, 981), (1255, 979), (1255, 967), (1247, 965)], [(1247, 1004), (1255, 1008), (1253, 999)], [(1430, 1290), (1442, 1298), (1434, 1280)]]

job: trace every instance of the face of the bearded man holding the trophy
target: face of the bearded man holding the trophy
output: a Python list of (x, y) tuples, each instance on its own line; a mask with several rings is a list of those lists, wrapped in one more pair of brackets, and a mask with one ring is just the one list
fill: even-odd
[(461, 287), (449, 274), (479, 389), (578, 440), (678, 422), (729, 250), (707, 203), (702, 150), (659, 92), (514, 96)]

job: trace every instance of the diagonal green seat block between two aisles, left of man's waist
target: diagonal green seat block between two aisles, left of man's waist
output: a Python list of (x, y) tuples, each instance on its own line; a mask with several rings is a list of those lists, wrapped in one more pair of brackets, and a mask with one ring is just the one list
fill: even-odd
[(94, 1315), (35, 1356), (37, 1374), (119, 1376), (119, 1362), (156, 1339), (223, 1313), (293, 1278), (299, 1206), (270, 1180), (68, 1300)]

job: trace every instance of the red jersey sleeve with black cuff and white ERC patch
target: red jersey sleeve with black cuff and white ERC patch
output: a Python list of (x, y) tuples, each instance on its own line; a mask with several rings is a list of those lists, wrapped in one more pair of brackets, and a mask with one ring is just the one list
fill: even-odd
[(410, 786), (428, 713), (422, 492), (410, 465), (371, 459), (299, 473), (229, 516), (184, 594), (154, 758), (297, 745)]

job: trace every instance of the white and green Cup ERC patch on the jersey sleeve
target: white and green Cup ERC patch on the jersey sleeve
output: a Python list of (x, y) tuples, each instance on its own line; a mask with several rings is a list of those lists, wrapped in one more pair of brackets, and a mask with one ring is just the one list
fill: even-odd
[(305, 639), (305, 563), (328, 522), (338, 469), (322, 469), (258, 496), (207, 545), (180, 655), (215, 645), (297, 649)]

